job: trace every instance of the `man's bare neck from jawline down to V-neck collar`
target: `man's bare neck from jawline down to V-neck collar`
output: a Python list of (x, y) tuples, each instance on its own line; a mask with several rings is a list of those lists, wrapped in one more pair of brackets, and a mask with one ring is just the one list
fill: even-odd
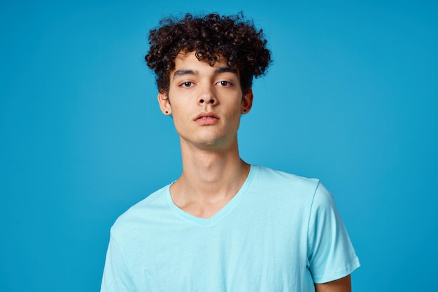
[(190, 147), (181, 141), (183, 173), (171, 186), (174, 203), (198, 217), (211, 217), (231, 200), (248, 177), (237, 141), (227, 150)]

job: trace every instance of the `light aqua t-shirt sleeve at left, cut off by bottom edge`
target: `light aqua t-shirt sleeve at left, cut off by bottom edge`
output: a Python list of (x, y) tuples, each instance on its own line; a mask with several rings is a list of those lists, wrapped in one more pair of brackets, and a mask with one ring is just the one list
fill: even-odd
[(123, 258), (113, 235), (110, 236), (108, 251), (106, 251), (104, 275), (101, 283), (101, 292), (111, 291), (136, 291), (125, 265), (125, 258)]

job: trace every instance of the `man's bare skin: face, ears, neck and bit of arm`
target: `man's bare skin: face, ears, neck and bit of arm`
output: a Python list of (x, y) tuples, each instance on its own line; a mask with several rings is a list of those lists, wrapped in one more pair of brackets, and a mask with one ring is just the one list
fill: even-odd
[[(237, 130), (250, 112), (253, 92), (243, 92), (239, 71), (220, 59), (214, 66), (194, 52), (181, 52), (170, 73), (169, 91), (157, 96), (164, 115), (172, 115), (180, 136), (183, 173), (171, 185), (175, 205), (200, 218), (213, 217), (248, 177), (239, 155)], [(199, 118), (204, 117), (204, 118)], [(351, 291), (350, 276), (315, 284), (317, 292)]]

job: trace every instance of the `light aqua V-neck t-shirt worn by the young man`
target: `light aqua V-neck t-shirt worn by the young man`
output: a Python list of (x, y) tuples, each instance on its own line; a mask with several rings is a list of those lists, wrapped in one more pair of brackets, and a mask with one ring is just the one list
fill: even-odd
[(318, 180), (251, 166), (209, 219), (172, 201), (170, 185), (115, 221), (101, 291), (314, 291), (360, 263)]

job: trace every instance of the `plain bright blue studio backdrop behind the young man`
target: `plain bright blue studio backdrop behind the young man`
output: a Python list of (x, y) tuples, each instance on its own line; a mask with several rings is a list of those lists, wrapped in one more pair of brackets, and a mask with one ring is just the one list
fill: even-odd
[(148, 30), (213, 10), (273, 52), (243, 159), (332, 191), (354, 291), (437, 291), (437, 4), (363, 2), (2, 1), (0, 291), (99, 290), (113, 221), (181, 173)]

